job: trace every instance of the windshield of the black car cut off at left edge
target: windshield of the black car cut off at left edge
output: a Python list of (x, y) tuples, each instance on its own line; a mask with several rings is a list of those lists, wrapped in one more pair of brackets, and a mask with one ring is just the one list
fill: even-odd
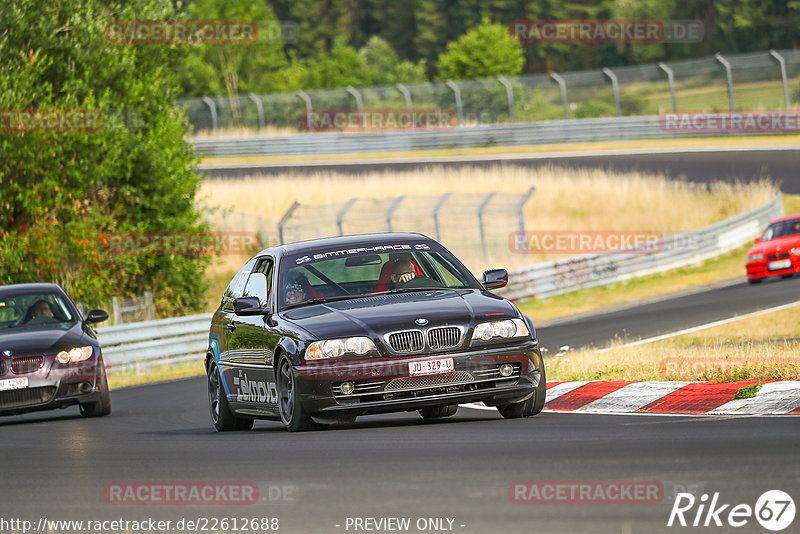
[(0, 328), (20, 328), (75, 321), (64, 297), (57, 293), (21, 293), (0, 297)]

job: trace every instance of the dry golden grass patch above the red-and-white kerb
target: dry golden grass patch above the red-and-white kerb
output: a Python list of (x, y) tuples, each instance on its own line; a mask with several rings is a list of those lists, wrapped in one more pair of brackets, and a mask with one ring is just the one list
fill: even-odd
[(798, 380), (798, 338), (789, 308), (646, 345), (562, 350), (546, 366), (549, 380)]

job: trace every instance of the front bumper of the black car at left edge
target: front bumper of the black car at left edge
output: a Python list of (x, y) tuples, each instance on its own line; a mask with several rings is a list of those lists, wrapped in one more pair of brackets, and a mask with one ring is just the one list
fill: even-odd
[(0, 380), (27, 378), (27, 386), (0, 391), (0, 416), (66, 408), (100, 399), (97, 357), (83, 365), (61, 365), (45, 357), (41, 367), (11, 372), (7, 365)]

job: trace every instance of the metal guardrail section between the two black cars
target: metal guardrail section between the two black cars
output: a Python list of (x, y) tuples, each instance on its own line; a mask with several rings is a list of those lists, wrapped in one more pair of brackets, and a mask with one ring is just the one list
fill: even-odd
[(146, 370), (199, 358), (208, 348), (211, 313), (98, 328), (110, 371)]

